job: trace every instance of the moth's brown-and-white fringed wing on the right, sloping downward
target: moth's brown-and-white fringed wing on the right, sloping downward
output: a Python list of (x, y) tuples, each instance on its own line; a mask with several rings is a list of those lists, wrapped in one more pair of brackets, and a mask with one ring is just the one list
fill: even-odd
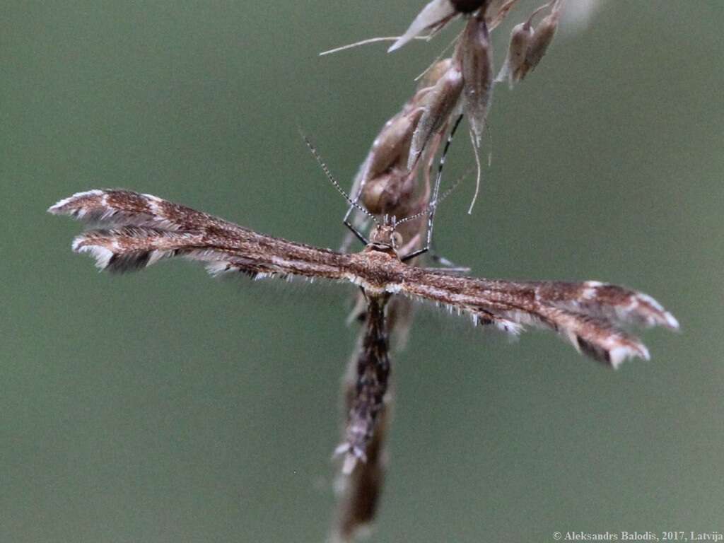
[(512, 282), (450, 277), (408, 268), (400, 290), (469, 313), (473, 321), (518, 334), (526, 325), (546, 327), (579, 352), (617, 367), (649, 351), (621, 327), (639, 324), (678, 329), (678, 322), (648, 295), (597, 281)]

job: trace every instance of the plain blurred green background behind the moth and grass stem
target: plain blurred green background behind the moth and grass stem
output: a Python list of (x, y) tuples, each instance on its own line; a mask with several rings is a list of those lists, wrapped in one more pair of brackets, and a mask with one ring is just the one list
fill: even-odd
[[(348, 185), (455, 32), (392, 55), (422, 1), (5, 1), (0, 541), (321, 542), (349, 289), (101, 275), (46, 214), (132, 188), (336, 247)], [(523, 2), (494, 33), (500, 62)], [(376, 542), (724, 531), (724, 4), (610, 1), (496, 89), (492, 166), (437, 247), (482, 277), (603, 279), (681, 321), (613, 372), (552, 334), (430, 309), (395, 355)], [(565, 29), (564, 29), (565, 30)], [(466, 138), (448, 180), (473, 164)]]

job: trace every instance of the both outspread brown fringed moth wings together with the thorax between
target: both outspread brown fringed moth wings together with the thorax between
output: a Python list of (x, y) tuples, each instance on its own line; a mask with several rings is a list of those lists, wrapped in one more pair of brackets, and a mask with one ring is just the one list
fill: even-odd
[(581, 353), (614, 367), (626, 358), (649, 358), (647, 348), (620, 327), (678, 329), (673, 315), (656, 300), (616, 285), (455, 277), (408, 266), (380, 251), (342, 254), (292, 243), (127, 190), (77, 193), (49, 211), (109, 227), (85, 232), (73, 243), (74, 251), (95, 256), (101, 269), (133, 271), (182, 256), (206, 262), (211, 273), (342, 279), (365, 289), (430, 300), (512, 334), (528, 325), (546, 327)]

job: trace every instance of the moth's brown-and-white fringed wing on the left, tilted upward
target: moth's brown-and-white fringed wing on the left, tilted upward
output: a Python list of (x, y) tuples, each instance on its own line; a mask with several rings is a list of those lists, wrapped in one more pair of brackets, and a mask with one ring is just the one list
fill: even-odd
[(72, 244), (73, 251), (93, 255), (100, 269), (134, 271), (182, 256), (205, 262), (212, 274), (348, 279), (348, 255), (262, 235), (152, 195), (89, 190), (48, 211), (101, 227)]

